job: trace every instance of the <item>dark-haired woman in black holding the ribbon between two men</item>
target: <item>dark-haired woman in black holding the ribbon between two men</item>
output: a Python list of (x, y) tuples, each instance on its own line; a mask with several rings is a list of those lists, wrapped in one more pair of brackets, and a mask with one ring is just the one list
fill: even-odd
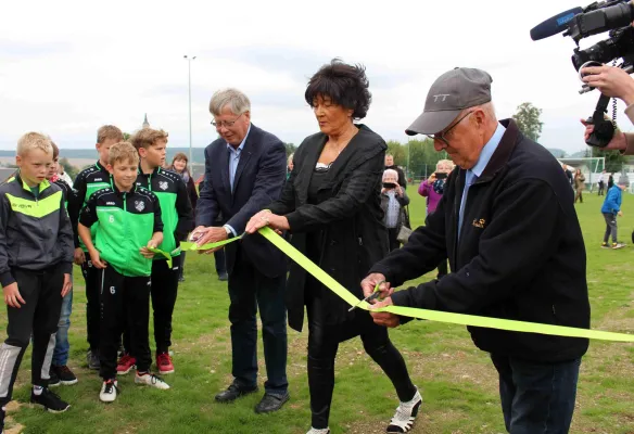
[[(357, 297), (371, 265), (388, 253), (381, 209), (383, 139), (353, 119), (366, 116), (371, 95), (362, 66), (333, 60), (310, 78), (305, 93), (321, 132), (307, 137), (279, 201), (246, 225), (289, 230), (292, 244)], [(363, 309), (350, 306), (292, 263), (287, 283), (289, 326), (302, 330), (308, 312), (308, 386), (313, 413), (309, 434), (327, 434), (339, 343), (360, 335), (364, 348), (396, 388), (401, 405), (389, 433), (411, 429), (422, 401), (388, 330)]]

